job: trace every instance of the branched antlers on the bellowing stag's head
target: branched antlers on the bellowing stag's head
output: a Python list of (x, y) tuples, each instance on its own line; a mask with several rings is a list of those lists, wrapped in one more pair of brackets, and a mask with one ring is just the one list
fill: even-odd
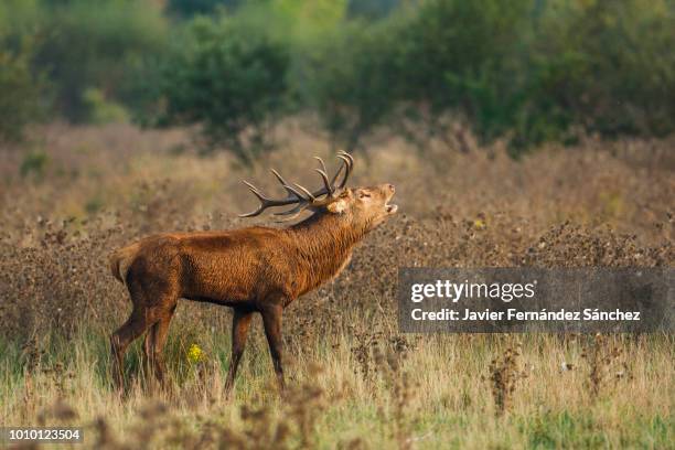
[[(354, 158), (352, 158), (351, 154), (344, 151), (339, 152), (338, 158), (342, 160), (342, 164), (340, 165), (340, 169), (338, 169), (338, 172), (335, 172), (331, 180), (329, 180), (328, 170), (325, 169), (325, 163), (323, 162), (323, 160), (319, 157), (314, 158), (321, 164), (321, 169), (314, 170), (317, 171), (317, 173), (319, 173), (319, 175), (321, 175), (321, 180), (323, 181), (323, 188), (314, 192), (310, 192), (308, 189), (298, 183), (293, 183), (293, 186), (291, 186), (283, 179), (283, 176), (281, 176), (279, 172), (272, 169), (272, 174), (279, 181), (279, 183), (281, 183), (288, 196), (286, 199), (280, 200), (269, 199), (265, 196), (265, 194), (262, 194), (262, 192), (260, 192), (258, 188), (243, 180), (244, 183), (248, 186), (248, 189), (250, 189), (250, 191), (254, 193), (254, 195), (258, 197), (258, 200), (260, 201), (260, 206), (258, 206), (256, 211), (253, 211), (250, 213), (239, 214), (239, 217), (255, 217), (261, 214), (268, 207), (296, 205), (296, 207), (291, 210), (275, 213), (275, 215), (278, 216), (290, 215), (290, 217), (286, 218), (287, 221), (290, 221), (296, 218), (304, 210), (315, 210), (318, 207), (331, 203), (346, 185), (347, 179), (350, 178), (350, 174), (352, 172), (352, 168), (354, 167)], [(342, 178), (342, 181), (338, 185), (335, 185), (338, 178), (342, 172), (342, 169), (344, 169), (344, 175)]]

